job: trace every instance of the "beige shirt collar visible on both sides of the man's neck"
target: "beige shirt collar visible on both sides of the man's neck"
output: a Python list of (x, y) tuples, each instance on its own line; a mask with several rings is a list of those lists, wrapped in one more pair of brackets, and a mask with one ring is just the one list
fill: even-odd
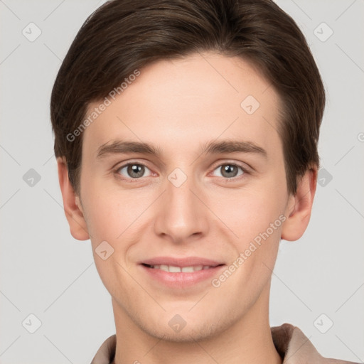
[[(311, 341), (296, 326), (283, 323), (271, 328), (274, 346), (283, 364), (358, 364), (345, 360), (323, 358)], [(116, 335), (109, 336), (92, 359), (91, 364), (114, 364)]]

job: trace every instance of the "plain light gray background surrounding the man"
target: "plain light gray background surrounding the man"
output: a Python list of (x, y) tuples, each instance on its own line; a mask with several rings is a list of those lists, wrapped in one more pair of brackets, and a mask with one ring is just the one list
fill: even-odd
[[(90, 363), (115, 333), (90, 240), (73, 239), (65, 219), (49, 116), (61, 61), (103, 2), (0, 0), (0, 363)], [(281, 242), (271, 326), (293, 323), (321, 355), (362, 362), (364, 1), (277, 3), (304, 31), (328, 101), (321, 184), (304, 237)], [(31, 22), (41, 29), (34, 41), (22, 33), (36, 35)], [(41, 178), (33, 186), (31, 168)], [(41, 321), (34, 333), (37, 319), (30, 314)]]

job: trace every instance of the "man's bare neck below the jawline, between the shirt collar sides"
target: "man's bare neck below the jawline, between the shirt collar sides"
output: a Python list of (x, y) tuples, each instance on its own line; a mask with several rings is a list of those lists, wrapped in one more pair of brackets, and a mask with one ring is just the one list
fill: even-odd
[[(269, 326), (269, 289), (264, 288), (255, 304), (222, 333), (196, 341), (165, 341), (141, 330), (114, 299), (112, 306), (117, 346), (112, 364), (282, 364)], [(263, 313), (266, 313), (265, 315)]]

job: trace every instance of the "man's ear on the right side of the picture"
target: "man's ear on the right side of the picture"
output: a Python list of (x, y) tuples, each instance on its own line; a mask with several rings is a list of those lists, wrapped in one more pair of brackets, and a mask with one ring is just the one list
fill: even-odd
[(282, 239), (298, 240), (309, 225), (312, 204), (317, 186), (317, 166), (309, 168), (301, 177), (295, 195), (289, 196), (284, 215), (287, 220), (282, 225)]

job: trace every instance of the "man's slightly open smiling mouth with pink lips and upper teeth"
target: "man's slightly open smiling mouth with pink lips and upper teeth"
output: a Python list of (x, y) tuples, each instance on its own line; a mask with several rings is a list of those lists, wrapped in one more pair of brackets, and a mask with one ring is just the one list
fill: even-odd
[(173, 259), (155, 258), (139, 263), (151, 284), (172, 289), (188, 288), (198, 284), (210, 284), (209, 279), (218, 275), (226, 264), (197, 257)]

